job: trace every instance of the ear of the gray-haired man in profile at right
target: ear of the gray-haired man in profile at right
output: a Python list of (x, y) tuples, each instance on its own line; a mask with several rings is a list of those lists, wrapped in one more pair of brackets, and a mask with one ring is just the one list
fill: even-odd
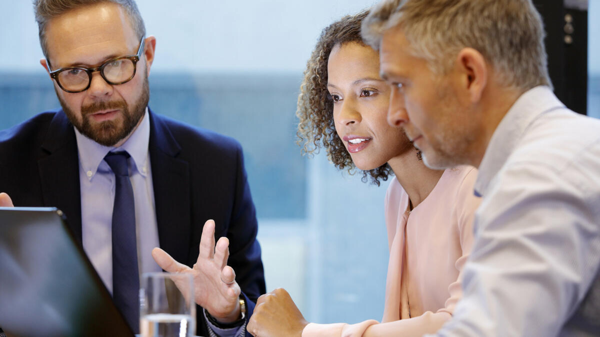
[(467, 91), (471, 103), (481, 100), (489, 74), (484, 56), (473, 48), (464, 48), (458, 53), (455, 67), (461, 89)]

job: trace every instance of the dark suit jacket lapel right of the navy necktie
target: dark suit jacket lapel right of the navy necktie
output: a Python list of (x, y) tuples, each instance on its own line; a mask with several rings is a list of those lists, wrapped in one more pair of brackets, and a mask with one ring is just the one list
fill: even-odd
[(150, 162), (160, 247), (186, 263), (190, 254), (190, 167), (160, 116), (150, 116)]

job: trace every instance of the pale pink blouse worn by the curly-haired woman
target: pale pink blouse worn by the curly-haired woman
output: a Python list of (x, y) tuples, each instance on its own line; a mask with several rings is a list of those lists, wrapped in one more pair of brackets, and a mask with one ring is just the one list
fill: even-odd
[(445, 170), (412, 212), (393, 179), (385, 198), (390, 256), (382, 323), (310, 323), (302, 336), (421, 336), (442, 327), (462, 295), (461, 270), (480, 201), (473, 194), (476, 177), (470, 166)]

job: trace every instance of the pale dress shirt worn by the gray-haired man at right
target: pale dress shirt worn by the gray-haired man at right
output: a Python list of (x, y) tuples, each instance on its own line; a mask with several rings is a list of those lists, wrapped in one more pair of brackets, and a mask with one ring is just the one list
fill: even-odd
[(463, 299), (436, 336), (600, 335), (600, 121), (547, 86), (485, 151)]

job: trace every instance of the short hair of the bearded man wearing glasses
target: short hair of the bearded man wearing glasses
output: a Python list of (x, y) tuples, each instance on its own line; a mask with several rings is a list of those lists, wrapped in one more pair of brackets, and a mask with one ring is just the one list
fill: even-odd
[[(146, 35), (146, 27), (136, 2), (133, 0), (34, 0), (35, 21), (38, 23), (41, 50), (48, 60), (48, 45), (46, 40), (46, 25), (54, 17), (61, 16), (67, 11), (94, 4), (112, 3), (120, 5), (131, 20), (131, 26), (137, 38)], [(48, 60), (49, 61), (49, 60)]]

